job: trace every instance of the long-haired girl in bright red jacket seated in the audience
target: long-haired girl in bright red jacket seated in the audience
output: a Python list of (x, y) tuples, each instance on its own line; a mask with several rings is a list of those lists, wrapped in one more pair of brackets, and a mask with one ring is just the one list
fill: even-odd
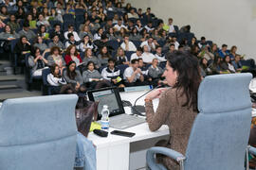
[(65, 56), (64, 56), (65, 63), (69, 63), (71, 60), (76, 62), (77, 66), (82, 64), (82, 59), (81, 59), (80, 54), (76, 48), (76, 45), (74, 45), (74, 44), (71, 44), (68, 46), (68, 48), (65, 51)]

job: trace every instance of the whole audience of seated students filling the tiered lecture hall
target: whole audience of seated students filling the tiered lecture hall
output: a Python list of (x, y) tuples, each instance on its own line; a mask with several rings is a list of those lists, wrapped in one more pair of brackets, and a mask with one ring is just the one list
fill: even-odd
[(124, 0), (1, 0), (0, 39), (13, 51), (13, 66), (31, 77), (50, 69), (53, 93), (78, 93), (107, 86), (167, 84), (165, 56), (188, 51), (200, 63), (201, 76), (240, 73), (237, 47), (220, 48), (205, 37), (197, 40), (191, 26), (174, 26), (155, 17), (151, 8), (125, 5)]

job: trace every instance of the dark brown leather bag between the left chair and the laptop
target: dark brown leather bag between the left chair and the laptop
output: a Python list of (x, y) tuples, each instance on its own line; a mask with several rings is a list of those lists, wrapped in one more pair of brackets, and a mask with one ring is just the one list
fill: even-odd
[(88, 136), (92, 121), (97, 121), (99, 102), (92, 102), (86, 96), (79, 97), (76, 106), (76, 122), (78, 131)]

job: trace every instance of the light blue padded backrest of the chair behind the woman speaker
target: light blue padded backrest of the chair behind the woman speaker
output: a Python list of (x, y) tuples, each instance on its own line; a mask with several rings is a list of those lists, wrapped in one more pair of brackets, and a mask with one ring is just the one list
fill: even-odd
[(244, 169), (251, 120), (251, 74), (207, 76), (198, 90), (199, 113), (185, 169)]

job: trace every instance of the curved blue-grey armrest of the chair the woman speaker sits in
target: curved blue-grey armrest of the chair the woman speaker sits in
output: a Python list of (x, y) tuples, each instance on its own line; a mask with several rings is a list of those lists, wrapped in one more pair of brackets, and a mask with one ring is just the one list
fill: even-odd
[(166, 155), (175, 161), (177, 161), (183, 167), (183, 161), (186, 159), (181, 153), (174, 151), (173, 149), (167, 147), (152, 147), (147, 151), (147, 162), (151, 169), (159, 168), (155, 161), (155, 154)]

